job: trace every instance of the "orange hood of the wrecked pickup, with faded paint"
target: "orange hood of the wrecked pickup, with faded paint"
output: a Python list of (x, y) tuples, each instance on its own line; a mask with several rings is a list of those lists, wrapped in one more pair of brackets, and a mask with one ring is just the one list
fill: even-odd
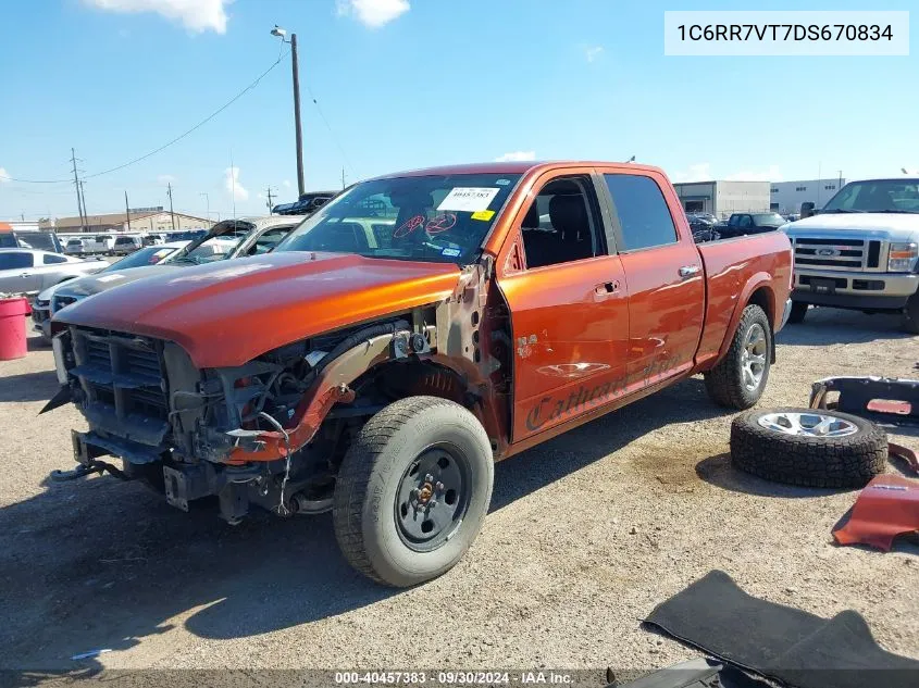
[(57, 322), (169, 339), (198, 367), (243, 365), (298, 339), (449, 297), (459, 267), (287, 251), (184, 267), (98, 293)]

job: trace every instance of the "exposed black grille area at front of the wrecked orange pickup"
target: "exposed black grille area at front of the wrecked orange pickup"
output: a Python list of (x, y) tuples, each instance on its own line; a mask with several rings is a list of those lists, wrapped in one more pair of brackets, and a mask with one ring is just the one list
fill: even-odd
[(70, 373), (85, 392), (90, 425), (159, 445), (170, 411), (162, 342), (79, 327), (71, 328), (71, 336), (76, 365)]

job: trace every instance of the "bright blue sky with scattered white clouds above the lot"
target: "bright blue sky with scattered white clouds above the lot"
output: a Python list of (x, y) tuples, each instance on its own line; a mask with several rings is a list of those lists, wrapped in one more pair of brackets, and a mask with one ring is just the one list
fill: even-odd
[[(296, 32), (306, 186), (495, 160), (624, 160), (674, 179), (810, 179), (919, 167), (919, 59), (663, 55), (663, 11), (909, 10), (644, 0), (30, 0), (0, 10), (0, 218), (74, 215), (86, 174), (142, 155), (264, 72)], [(911, 38), (916, 29), (911, 30)], [(911, 42), (916, 42), (915, 40)], [(312, 102), (315, 96), (331, 125)], [(290, 62), (176, 145), (89, 178), (90, 214), (203, 215), (296, 196)], [(207, 200), (202, 193), (207, 193)]]

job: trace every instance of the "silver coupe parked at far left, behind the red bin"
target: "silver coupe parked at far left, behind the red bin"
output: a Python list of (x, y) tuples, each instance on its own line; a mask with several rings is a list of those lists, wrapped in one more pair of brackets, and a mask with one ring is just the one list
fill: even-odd
[(0, 249), (0, 292), (36, 293), (104, 266), (104, 261), (82, 261), (50, 251)]

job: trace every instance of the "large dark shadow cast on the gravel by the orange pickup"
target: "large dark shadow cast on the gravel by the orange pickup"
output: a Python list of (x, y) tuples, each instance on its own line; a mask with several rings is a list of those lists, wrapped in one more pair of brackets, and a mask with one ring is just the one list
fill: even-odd
[[(53, 373), (52, 380), (53, 380)], [(725, 412), (691, 379), (501, 462), (492, 510), (671, 423)], [(71, 656), (156, 643), (182, 626), (209, 639), (251, 637), (346, 614), (402, 591), (356, 573), (331, 515), (253, 513), (236, 527), (185, 514), (111, 477), (47, 489), (0, 509), (0, 668), (100, 667)], [(449, 577), (444, 579), (449, 585)]]

